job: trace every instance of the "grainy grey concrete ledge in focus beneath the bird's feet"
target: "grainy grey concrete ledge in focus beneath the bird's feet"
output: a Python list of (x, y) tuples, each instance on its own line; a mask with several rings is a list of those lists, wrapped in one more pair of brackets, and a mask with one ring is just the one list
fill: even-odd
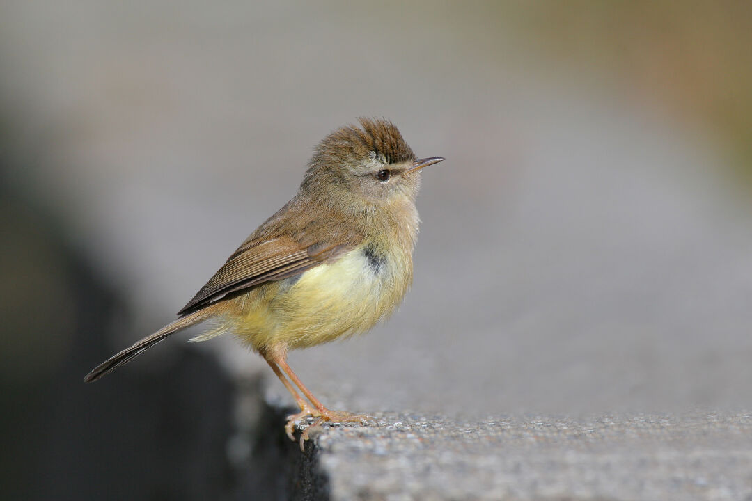
[(747, 412), (375, 417), (315, 435), (308, 499), (752, 499)]

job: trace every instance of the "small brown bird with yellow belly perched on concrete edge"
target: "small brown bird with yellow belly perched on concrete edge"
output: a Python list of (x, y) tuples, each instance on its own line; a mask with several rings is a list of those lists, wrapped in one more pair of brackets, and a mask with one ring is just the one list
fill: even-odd
[(178, 330), (213, 320), (217, 327), (192, 341), (229, 331), (258, 352), (300, 406), (287, 418), (290, 439), (303, 418), (318, 418), (314, 426), (362, 421), (326, 409), (287, 365), (287, 352), (365, 332), (396, 309), (413, 277), (420, 170), (444, 158), (416, 158), (384, 119), (359, 122), (319, 143), (297, 195), (238, 247), (176, 321), (84, 381), (96, 381)]

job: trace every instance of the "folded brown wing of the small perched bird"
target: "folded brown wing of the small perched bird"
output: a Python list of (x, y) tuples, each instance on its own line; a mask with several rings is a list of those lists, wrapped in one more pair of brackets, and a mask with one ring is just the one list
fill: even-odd
[(285, 236), (247, 240), (177, 314), (195, 312), (227, 294), (253, 285), (299, 275), (352, 248), (351, 243), (303, 246)]

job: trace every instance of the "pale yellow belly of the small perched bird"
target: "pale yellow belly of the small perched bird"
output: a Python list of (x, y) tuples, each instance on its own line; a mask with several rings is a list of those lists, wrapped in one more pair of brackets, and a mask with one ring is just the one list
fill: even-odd
[(219, 330), (234, 331), (258, 351), (305, 348), (370, 329), (405, 296), (412, 259), (391, 252), (375, 266), (363, 249), (236, 297)]

